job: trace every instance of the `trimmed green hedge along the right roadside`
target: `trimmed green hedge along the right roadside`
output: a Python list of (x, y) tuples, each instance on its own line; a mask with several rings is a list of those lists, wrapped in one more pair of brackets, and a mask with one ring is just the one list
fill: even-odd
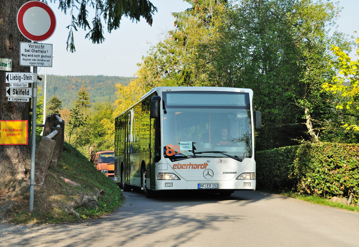
[(320, 142), (256, 152), (257, 189), (359, 195), (359, 145)]

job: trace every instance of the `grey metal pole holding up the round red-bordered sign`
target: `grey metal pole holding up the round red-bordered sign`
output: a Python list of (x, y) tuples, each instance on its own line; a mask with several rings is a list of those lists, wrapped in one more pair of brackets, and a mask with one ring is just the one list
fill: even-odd
[[(37, 42), (35, 42), (37, 43)], [(34, 83), (32, 87), (32, 123), (31, 123), (31, 169), (29, 210), (34, 209), (35, 153), (36, 153), (36, 105), (37, 105), (37, 67), (33, 67)]]

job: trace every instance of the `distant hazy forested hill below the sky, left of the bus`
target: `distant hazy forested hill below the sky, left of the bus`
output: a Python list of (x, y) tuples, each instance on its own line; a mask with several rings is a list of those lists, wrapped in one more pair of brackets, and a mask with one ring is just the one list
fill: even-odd
[[(39, 75), (42, 81), (38, 81), (38, 86), (41, 86), (41, 95), (44, 88), (44, 75)], [(117, 96), (116, 84), (121, 83), (127, 85), (135, 79), (134, 77), (119, 77), (119, 76), (55, 76), (47, 75), (46, 77), (46, 101), (49, 101), (52, 96), (56, 95), (62, 100), (62, 108), (71, 109), (74, 106), (74, 101), (77, 99), (78, 91), (82, 84), (85, 84), (85, 89), (89, 93), (91, 105), (96, 102), (115, 102)]]

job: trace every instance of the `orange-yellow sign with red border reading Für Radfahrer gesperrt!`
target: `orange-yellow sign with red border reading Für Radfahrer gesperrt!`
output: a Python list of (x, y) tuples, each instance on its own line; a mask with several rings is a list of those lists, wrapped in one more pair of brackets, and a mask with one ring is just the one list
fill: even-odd
[(0, 120), (0, 145), (27, 145), (27, 120)]

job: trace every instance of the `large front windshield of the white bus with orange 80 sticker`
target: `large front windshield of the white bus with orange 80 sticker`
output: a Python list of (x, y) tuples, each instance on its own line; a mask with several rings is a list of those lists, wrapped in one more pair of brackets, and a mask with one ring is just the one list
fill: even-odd
[(164, 157), (252, 156), (247, 93), (166, 92), (163, 101)]

